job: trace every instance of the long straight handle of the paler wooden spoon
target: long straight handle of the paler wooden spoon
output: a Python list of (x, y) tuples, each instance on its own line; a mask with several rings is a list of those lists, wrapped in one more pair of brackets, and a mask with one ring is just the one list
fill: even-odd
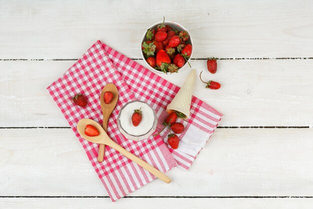
[(125, 157), (131, 159), (132, 161), (134, 161), (135, 163), (137, 163), (138, 165), (140, 165), (141, 167), (143, 167), (144, 169), (146, 169), (147, 171), (149, 171), (150, 173), (152, 173), (153, 175), (155, 175), (156, 177), (158, 177), (159, 179), (161, 179), (165, 183), (170, 182), (170, 178), (167, 177), (164, 173), (162, 173), (161, 171), (159, 171), (158, 169), (156, 169), (152, 165), (148, 164), (144, 160), (140, 159), (139, 157), (133, 155), (132, 153), (130, 153), (129, 151), (127, 151), (126, 149), (124, 149), (123, 147), (121, 147), (120, 145), (115, 143), (114, 141), (112, 141), (111, 139), (105, 141), (105, 144), (112, 147), (113, 149), (116, 149), (121, 154), (123, 154)]

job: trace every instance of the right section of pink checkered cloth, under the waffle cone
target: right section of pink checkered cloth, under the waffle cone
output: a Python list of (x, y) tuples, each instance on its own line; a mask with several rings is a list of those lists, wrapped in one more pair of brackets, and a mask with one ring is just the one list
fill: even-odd
[[(135, 97), (149, 103), (156, 110), (158, 116), (157, 129), (162, 129), (162, 122), (167, 116), (166, 106), (176, 95), (179, 87), (110, 48), (105, 43), (101, 43), (99, 40), (97, 42), (102, 44), (104, 51)], [(186, 170), (190, 168), (193, 160), (214, 132), (221, 117), (222, 113), (192, 96), (190, 117), (187, 121), (180, 121), (184, 124), (185, 131), (179, 135), (178, 149), (172, 149), (167, 145), (178, 167)], [(167, 128), (160, 134), (166, 143), (168, 133), (169, 129)]]

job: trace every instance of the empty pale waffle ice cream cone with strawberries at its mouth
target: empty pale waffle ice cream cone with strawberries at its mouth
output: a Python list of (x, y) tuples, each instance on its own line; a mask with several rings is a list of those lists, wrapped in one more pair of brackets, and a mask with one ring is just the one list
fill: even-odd
[(176, 110), (186, 115), (185, 118), (188, 118), (190, 116), (190, 104), (194, 88), (194, 81), (195, 69), (190, 72), (173, 100), (167, 105), (166, 111), (170, 109)]

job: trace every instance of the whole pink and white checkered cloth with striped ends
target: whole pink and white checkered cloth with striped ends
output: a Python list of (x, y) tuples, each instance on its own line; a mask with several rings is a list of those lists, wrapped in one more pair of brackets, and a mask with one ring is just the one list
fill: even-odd
[[(147, 102), (155, 110), (158, 116), (157, 128), (161, 129), (167, 114), (166, 106), (179, 87), (99, 40), (95, 42), (47, 90), (82, 144), (112, 201), (145, 185), (155, 176), (108, 146), (105, 148), (103, 162), (98, 162), (98, 144), (84, 140), (77, 132), (76, 124), (81, 118), (91, 118), (102, 123), (99, 97), (101, 89), (107, 83), (114, 83), (119, 93), (116, 108), (108, 122), (108, 135), (163, 172), (174, 167), (176, 163), (188, 169), (222, 116), (220, 112), (193, 96), (190, 118), (187, 122), (183, 121), (185, 131), (179, 135), (181, 141), (178, 149), (173, 150), (165, 144), (169, 130), (140, 141), (126, 139), (119, 132), (116, 123), (118, 112), (126, 102), (135, 99)], [(86, 107), (72, 103), (71, 97), (76, 93), (87, 95)]]

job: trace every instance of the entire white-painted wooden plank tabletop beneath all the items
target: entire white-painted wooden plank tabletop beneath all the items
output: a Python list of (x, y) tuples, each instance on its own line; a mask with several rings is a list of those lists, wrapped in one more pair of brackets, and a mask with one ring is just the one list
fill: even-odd
[[(168, 172), (124, 198), (0, 198), (0, 208), (310, 208), (313, 198), (142, 198), (140, 196), (312, 196), (313, 1), (2, 0), (0, 127), (67, 126), (45, 87), (96, 39), (141, 58), (144, 30), (162, 16), (184, 25), (193, 58), (310, 57), (219, 60), (195, 95), (224, 113), (189, 171)], [(138, 62), (142, 63), (142, 60)], [(192, 60), (200, 72), (204, 60)], [(166, 76), (181, 85), (188, 68)], [(165, 76), (163, 76), (165, 77)], [(47, 134), (42, 137), (41, 134)], [(13, 140), (17, 140), (13, 142)], [(0, 129), (0, 196), (106, 196), (70, 129)], [(161, 204), (161, 205), (160, 205)]]

